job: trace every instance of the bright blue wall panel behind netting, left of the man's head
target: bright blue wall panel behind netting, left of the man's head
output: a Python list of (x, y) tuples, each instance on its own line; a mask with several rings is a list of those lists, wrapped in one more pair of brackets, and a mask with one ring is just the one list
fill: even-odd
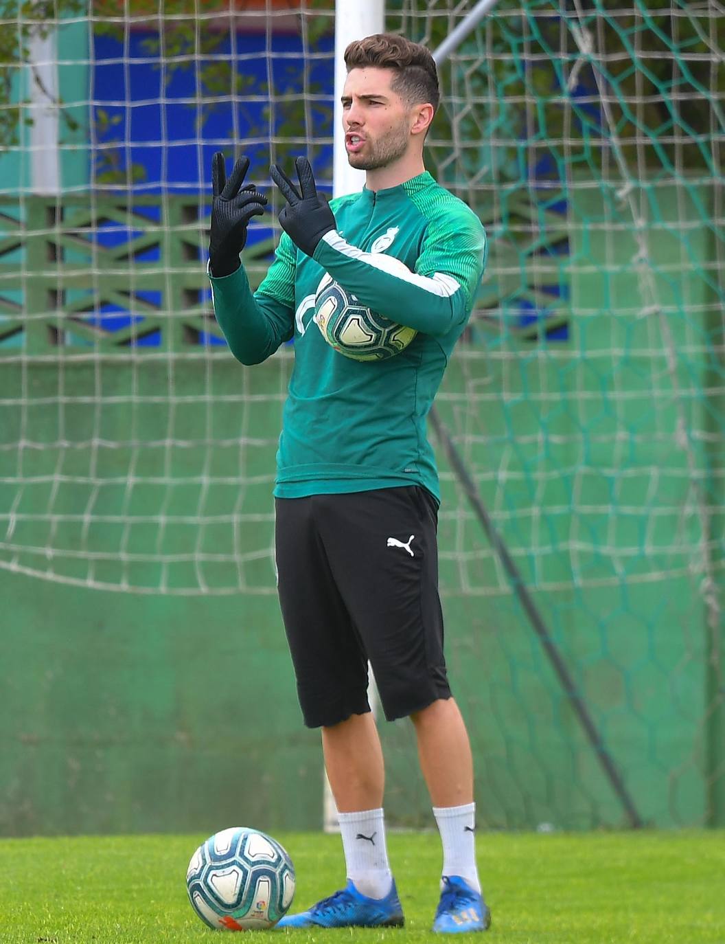
[[(137, 193), (206, 189), (211, 158), (218, 150), (229, 158), (234, 150), (248, 154), (250, 179), (266, 182), (270, 139), (284, 120), (285, 102), (299, 101), (310, 88), (318, 97), (309, 109), (311, 126), (303, 135), (314, 144), (316, 170), (331, 182), (332, 36), (323, 37), (314, 54), (305, 58), (297, 34), (272, 33), (271, 49), (265, 34), (237, 35), (234, 59), (243, 91), (233, 103), (229, 96), (210, 99), (199, 94), (205, 64), (212, 59), (231, 61), (228, 37), (213, 57), (189, 56), (170, 68), (153, 50), (157, 36), (150, 30), (135, 30), (126, 46), (106, 35), (93, 39), (96, 183), (103, 182), (99, 175), (113, 165), (121, 171), (122, 187), (125, 176), (135, 171)], [(299, 147), (304, 153), (305, 143)]]

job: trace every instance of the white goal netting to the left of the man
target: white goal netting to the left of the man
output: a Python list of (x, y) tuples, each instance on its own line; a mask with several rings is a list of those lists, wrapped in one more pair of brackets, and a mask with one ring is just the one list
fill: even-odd
[[(208, 177), (216, 150), (243, 148), (268, 187), (271, 160), (305, 150), (331, 187), (333, 4), (5, 6), (0, 566), (271, 593), (291, 352), (257, 377), (228, 357)], [(275, 222), (250, 228), (253, 281)]]

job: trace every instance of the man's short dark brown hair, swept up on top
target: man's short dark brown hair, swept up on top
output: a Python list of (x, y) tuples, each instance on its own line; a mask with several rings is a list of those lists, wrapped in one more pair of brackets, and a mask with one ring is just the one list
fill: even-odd
[(395, 33), (375, 33), (364, 40), (354, 40), (345, 50), (347, 71), (374, 66), (392, 69), (396, 76), (390, 83), (408, 105), (430, 102), (437, 110), (440, 101), (436, 60), (419, 42), (410, 42)]

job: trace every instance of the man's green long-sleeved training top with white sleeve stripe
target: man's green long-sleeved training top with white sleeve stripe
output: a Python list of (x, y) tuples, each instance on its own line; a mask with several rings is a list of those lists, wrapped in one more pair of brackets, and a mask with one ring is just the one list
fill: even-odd
[[(420, 484), (439, 500), (425, 418), (470, 316), (486, 264), (478, 217), (430, 174), (330, 204), (337, 229), (312, 258), (285, 233), (255, 294), (244, 269), (211, 278), (214, 312), (234, 356), (264, 361), (294, 338), (274, 495), (364, 492)], [(379, 253), (410, 270), (376, 266)], [(374, 312), (418, 330), (385, 361), (353, 361), (312, 320), (324, 272)]]

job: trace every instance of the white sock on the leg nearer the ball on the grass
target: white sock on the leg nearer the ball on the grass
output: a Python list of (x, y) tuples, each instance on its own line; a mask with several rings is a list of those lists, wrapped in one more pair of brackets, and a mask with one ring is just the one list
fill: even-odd
[(338, 813), (347, 877), (361, 895), (385, 898), (392, 885), (383, 810)]

